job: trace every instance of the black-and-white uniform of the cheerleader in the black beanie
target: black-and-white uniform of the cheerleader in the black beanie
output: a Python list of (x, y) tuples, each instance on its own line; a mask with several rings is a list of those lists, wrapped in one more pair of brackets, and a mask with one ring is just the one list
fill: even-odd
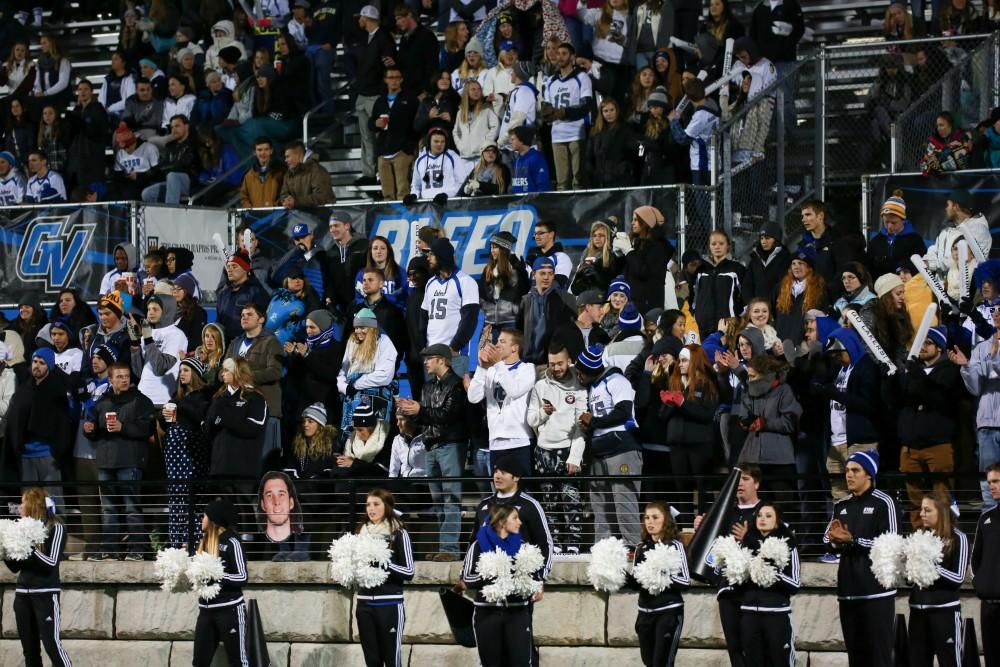
[(247, 655), (247, 606), (243, 584), (247, 582), (247, 561), (239, 536), (226, 529), (219, 536), (219, 558), (225, 573), (222, 590), (211, 600), (198, 598), (198, 622), (194, 628), (194, 667), (208, 667), (222, 642), (233, 667), (250, 667)]

